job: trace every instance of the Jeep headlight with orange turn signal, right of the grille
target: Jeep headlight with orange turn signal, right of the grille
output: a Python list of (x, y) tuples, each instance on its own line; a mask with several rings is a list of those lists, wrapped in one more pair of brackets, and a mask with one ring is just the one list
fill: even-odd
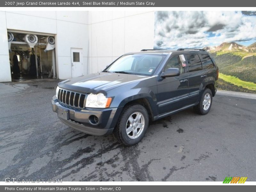
[(89, 108), (108, 108), (112, 98), (106, 98), (103, 93), (92, 94), (87, 96), (85, 107)]

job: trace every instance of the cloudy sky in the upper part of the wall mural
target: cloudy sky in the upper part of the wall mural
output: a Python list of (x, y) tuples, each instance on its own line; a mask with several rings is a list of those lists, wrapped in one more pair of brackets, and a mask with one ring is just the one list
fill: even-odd
[(255, 11), (157, 11), (154, 48), (203, 48), (256, 42)]

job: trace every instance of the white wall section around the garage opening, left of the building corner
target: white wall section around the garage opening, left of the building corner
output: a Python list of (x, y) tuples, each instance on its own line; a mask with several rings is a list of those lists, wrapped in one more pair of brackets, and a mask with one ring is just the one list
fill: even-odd
[(87, 11), (0, 11), (0, 82), (11, 81), (7, 29), (51, 34), (56, 40), (57, 77), (71, 77), (71, 48), (83, 49), (83, 72), (87, 74)]

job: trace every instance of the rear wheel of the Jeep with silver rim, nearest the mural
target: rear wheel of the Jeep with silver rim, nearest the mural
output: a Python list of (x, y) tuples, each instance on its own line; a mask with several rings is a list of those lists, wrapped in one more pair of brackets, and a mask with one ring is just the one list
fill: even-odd
[[(210, 103), (209, 103), (210, 102)], [(206, 115), (212, 106), (212, 91), (206, 88), (201, 96), (201, 99), (194, 107), (194, 111), (200, 115)]]

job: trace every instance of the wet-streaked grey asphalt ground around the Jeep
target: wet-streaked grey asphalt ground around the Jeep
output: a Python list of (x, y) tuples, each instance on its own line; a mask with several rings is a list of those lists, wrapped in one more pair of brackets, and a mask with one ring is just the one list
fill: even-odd
[(124, 147), (61, 123), (57, 83), (0, 84), (0, 181), (256, 181), (256, 100), (216, 95), (207, 115), (190, 108), (157, 120)]

